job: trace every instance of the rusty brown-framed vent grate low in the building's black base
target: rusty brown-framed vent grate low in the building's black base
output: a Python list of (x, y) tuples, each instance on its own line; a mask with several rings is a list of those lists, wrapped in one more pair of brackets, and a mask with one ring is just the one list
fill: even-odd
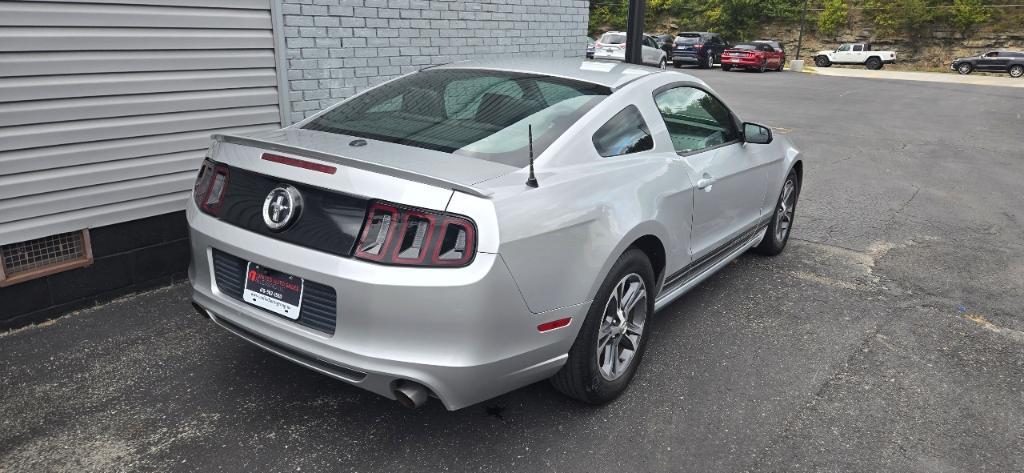
[(0, 287), (92, 263), (89, 230), (70, 231), (0, 247)]

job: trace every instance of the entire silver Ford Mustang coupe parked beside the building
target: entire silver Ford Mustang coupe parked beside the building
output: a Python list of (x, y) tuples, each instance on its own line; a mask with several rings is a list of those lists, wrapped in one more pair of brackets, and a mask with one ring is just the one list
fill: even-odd
[(457, 410), (550, 378), (621, 394), (655, 312), (785, 247), (800, 153), (680, 73), (460, 62), (217, 135), (195, 307), (296, 363)]

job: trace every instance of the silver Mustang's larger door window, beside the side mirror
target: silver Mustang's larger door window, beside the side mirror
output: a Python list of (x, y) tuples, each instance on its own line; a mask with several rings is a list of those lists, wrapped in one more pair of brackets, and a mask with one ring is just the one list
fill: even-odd
[(676, 153), (693, 153), (739, 139), (732, 114), (721, 101), (693, 87), (676, 87), (654, 97)]

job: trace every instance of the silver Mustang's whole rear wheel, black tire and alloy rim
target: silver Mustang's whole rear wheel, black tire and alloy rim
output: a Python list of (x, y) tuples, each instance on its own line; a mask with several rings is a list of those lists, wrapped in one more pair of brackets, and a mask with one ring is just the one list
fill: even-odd
[(626, 391), (647, 345), (654, 270), (632, 248), (615, 261), (590, 305), (565, 365), (551, 378), (563, 394), (591, 404)]

